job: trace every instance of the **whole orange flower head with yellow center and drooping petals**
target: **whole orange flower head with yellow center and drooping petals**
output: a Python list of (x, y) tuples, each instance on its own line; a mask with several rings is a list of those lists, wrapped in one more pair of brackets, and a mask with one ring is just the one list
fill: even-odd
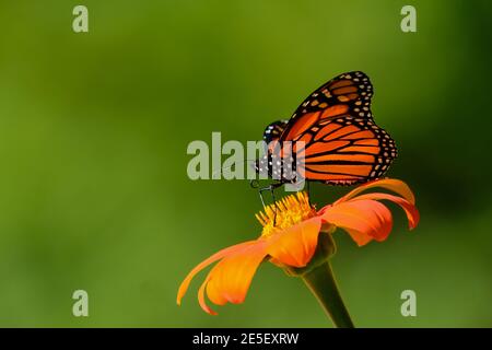
[[(374, 187), (385, 188), (398, 196), (385, 192), (360, 195)], [(320, 210), (309, 205), (305, 192), (288, 196), (266, 207), (265, 212), (257, 215), (263, 226), (261, 236), (222, 249), (195, 267), (179, 287), (178, 305), (195, 275), (215, 261), (219, 262), (198, 291), (200, 306), (212, 315), (215, 312), (207, 305), (206, 294), (216, 305), (243, 303), (261, 261), (267, 258), (280, 267), (306, 267), (315, 254), (320, 232), (331, 234), (336, 228), (343, 229), (359, 246), (373, 240), (385, 241), (391, 231), (393, 218), (389, 209), (377, 201), (383, 199), (405, 210), (410, 230), (417, 226), (419, 212), (413, 194), (398, 179), (364, 184)]]

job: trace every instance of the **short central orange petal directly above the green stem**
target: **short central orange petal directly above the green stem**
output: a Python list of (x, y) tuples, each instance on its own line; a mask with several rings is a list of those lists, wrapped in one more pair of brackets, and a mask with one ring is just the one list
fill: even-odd
[(316, 250), (320, 229), (321, 220), (316, 217), (282, 230), (270, 237), (267, 253), (276, 261), (304, 267)]

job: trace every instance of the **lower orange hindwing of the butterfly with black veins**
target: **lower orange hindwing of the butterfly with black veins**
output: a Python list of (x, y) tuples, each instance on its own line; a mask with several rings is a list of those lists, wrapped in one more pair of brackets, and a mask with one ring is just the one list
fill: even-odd
[(397, 156), (395, 141), (372, 119), (343, 115), (320, 120), (301, 139), (304, 177), (329, 185), (353, 185), (384, 175)]

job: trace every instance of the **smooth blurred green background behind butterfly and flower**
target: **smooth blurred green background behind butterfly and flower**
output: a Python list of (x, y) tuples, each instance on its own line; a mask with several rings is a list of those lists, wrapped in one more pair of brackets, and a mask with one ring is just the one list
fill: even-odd
[[(90, 33), (72, 32), (89, 8)], [(400, 31), (417, 8), (418, 32)], [(194, 281), (256, 237), (247, 180), (188, 179), (192, 140), (256, 140), (315, 88), (363, 70), (397, 141), (388, 176), (414, 189), (409, 233), (337, 233), (358, 326), (492, 326), (492, 5), (483, 1), (0, 2), (0, 326), (324, 327), (301, 280), (263, 265), (246, 303), (203, 313)], [(327, 203), (347, 188), (316, 185)], [(90, 317), (72, 316), (74, 290)], [(417, 292), (417, 317), (400, 293)]]

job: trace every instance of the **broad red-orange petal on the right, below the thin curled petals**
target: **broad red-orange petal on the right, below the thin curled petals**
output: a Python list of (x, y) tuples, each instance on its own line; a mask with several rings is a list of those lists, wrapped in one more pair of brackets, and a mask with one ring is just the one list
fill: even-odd
[(325, 209), (321, 218), (344, 229), (359, 246), (385, 241), (393, 228), (391, 212), (375, 200), (353, 199)]

